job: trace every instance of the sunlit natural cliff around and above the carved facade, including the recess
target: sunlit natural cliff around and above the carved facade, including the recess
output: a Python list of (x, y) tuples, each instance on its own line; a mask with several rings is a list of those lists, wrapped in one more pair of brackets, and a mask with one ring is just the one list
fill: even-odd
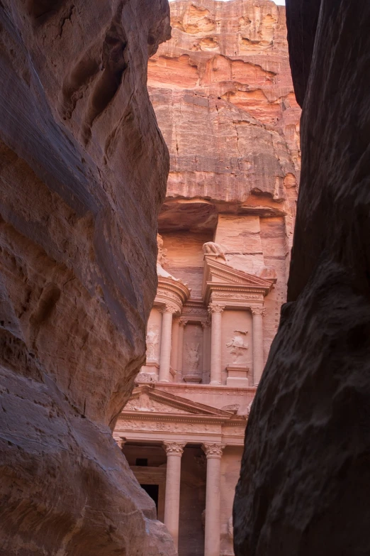
[(200, 298), (202, 244), (228, 264), (277, 278), (266, 299), (264, 357), (286, 281), (301, 155), (286, 16), (270, 0), (175, 0), (172, 39), (150, 58), (148, 89), (169, 147), (159, 232), (166, 269)]

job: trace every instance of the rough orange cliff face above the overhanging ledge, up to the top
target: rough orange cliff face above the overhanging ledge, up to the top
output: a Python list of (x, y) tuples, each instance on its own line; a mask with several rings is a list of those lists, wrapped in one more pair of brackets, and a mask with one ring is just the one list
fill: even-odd
[(171, 2), (172, 40), (149, 62), (169, 146), (168, 197), (284, 207), (300, 153), (285, 8), (270, 0)]

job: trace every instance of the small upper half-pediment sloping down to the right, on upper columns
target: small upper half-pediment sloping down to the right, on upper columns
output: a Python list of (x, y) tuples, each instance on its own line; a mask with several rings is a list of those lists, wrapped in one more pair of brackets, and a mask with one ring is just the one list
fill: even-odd
[(240, 290), (240, 288), (250, 291), (259, 290), (263, 295), (267, 295), (271, 290), (272, 282), (206, 256), (203, 273), (203, 298), (206, 297), (207, 290), (209, 293), (217, 285), (230, 286), (231, 290), (233, 288), (235, 290)]

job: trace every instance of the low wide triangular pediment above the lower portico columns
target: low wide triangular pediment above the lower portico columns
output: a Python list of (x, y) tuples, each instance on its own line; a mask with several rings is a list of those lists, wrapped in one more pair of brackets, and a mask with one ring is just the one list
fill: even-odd
[(142, 385), (135, 388), (130, 400), (123, 408), (127, 412), (164, 413), (176, 415), (208, 415), (209, 417), (230, 417), (231, 411), (212, 408), (203, 403), (196, 403), (173, 394), (159, 391), (151, 386)]

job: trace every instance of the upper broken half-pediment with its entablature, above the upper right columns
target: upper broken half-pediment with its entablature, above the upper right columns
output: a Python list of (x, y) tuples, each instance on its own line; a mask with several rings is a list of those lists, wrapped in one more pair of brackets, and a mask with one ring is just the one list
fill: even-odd
[[(267, 280), (237, 270), (225, 262), (215, 260), (213, 256), (206, 255), (204, 257), (202, 295), (206, 303), (209, 302), (213, 293), (215, 293), (213, 297), (218, 297), (218, 292), (229, 292), (229, 298), (232, 298), (232, 293), (235, 294), (235, 299), (244, 293), (257, 295), (263, 300), (271, 290), (273, 283), (274, 280)], [(225, 295), (220, 295), (220, 297), (225, 297)]]

